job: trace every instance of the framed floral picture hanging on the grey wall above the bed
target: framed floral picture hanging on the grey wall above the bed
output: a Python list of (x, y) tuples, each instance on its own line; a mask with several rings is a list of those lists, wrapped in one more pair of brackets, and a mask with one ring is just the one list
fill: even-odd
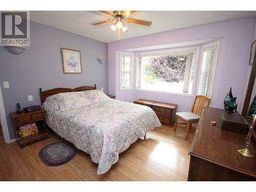
[(82, 73), (81, 52), (61, 48), (63, 73)]

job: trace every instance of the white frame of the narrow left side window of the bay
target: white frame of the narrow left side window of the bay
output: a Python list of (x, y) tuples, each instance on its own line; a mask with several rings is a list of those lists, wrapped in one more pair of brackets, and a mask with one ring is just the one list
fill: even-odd
[[(130, 88), (123, 88), (122, 87), (122, 56), (131, 57), (131, 75), (130, 75)], [(134, 86), (134, 53), (128, 53), (128, 52), (120, 52), (120, 60), (119, 60), (119, 89), (120, 90), (133, 90)]]

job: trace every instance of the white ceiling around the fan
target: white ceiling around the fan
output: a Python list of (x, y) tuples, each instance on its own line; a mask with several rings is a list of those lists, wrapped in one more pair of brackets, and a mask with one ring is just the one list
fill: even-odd
[[(212, 24), (256, 15), (256, 11), (139, 11), (133, 18), (150, 20), (152, 25), (145, 27), (126, 24), (128, 32), (121, 33), (121, 39), (138, 37), (163, 31), (191, 26)], [(30, 19), (58, 29), (76, 33), (103, 42), (116, 41), (112, 23), (94, 27), (91, 23), (108, 19), (108, 15), (97, 11), (31, 11)]]

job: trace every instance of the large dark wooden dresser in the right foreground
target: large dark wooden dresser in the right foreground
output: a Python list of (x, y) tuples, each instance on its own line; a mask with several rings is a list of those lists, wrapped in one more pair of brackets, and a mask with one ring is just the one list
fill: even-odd
[[(222, 109), (204, 108), (190, 146), (188, 181), (256, 181), (256, 146), (253, 158), (237, 151), (245, 147), (246, 135), (222, 131)], [(216, 126), (210, 122), (216, 121)]]

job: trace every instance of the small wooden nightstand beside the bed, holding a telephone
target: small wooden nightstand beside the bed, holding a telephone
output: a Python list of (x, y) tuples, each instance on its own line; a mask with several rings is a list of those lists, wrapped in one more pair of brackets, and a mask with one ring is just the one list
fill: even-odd
[[(48, 139), (49, 138), (49, 132), (44, 124), (44, 120), (46, 118), (45, 116), (45, 110), (35, 110), (32, 112), (22, 112), (22, 113), (10, 113), (10, 116), (12, 118), (12, 122), (14, 125), (14, 132), (16, 134), (17, 143), (20, 148), (23, 148), (26, 146), (26, 144), (33, 143), (34, 141), (39, 141), (42, 138)], [(28, 124), (28, 123), (36, 123), (38, 133), (29, 135), (27, 137), (19, 138), (18, 135), (18, 129), (19, 126)]]

